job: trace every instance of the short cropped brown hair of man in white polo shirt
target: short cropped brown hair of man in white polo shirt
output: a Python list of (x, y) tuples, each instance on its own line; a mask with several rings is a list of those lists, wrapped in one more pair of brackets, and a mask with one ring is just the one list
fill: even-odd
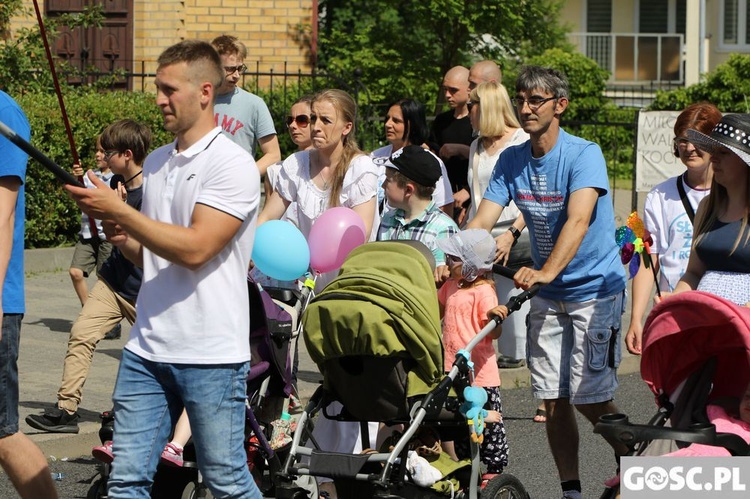
[(224, 83), (224, 68), (221, 58), (210, 43), (202, 40), (183, 40), (161, 53), (156, 61), (159, 68), (185, 62), (188, 64), (188, 78), (193, 83), (208, 81), (214, 88)]

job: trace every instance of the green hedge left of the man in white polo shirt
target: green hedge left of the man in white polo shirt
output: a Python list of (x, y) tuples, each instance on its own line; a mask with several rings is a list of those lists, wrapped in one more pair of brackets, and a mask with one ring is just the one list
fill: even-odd
[[(34, 92), (14, 96), (31, 124), (31, 143), (62, 167), (72, 167), (68, 138), (54, 93)], [(94, 166), (96, 138), (110, 123), (123, 118), (151, 128), (153, 147), (173, 140), (164, 131), (159, 109), (151, 94), (71, 92), (65, 96), (76, 149), (86, 168)], [(70, 244), (79, 230), (80, 211), (64, 193), (59, 181), (34, 160), (26, 175), (26, 247), (48, 248)]]

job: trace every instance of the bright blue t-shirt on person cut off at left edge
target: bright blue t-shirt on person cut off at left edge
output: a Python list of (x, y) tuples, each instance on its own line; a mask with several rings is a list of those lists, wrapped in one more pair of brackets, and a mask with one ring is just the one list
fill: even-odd
[[(29, 141), (31, 127), (21, 108), (5, 92), (0, 90), (0, 121), (8, 125), (19, 137)], [(23, 287), (23, 243), (25, 216), (26, 162), (28, 156), (8, 139), (0, 136), (0, 177), (18, 177), (21, 185), (16, 198), (16, 214), (13, 226), (13, 248), (8, 270), (3, 282), (3, 313), (26, 312)]]

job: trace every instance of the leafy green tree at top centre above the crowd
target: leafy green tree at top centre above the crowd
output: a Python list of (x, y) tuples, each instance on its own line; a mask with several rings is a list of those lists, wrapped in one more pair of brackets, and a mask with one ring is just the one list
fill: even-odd
[(453, 66), (485, 58), (524, 60), (563, 46), (565, 29), (558, 22), (563, 3), (321, 0), (319, 65), (347, 78), (360, 69), (371, 102), (409, 96), (429, 107)]

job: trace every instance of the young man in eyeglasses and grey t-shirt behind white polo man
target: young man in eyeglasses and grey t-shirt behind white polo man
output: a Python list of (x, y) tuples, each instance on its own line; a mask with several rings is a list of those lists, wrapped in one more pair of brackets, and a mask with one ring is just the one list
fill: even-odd
[(270, 165), (281, 161), (281, 149), (266, 103), (237, 85), (247, 70), (244, 64), (247, 48), (231, 35), (218, 36), (211, 41), (211, 45), (219, 53), (225, 72), (224, 83), (216, 89), (216, 126), (220, 126), (232, 141), (241, 145), (253, 158), (260, 146), (263, 155), (256, 158), (256, 164), (260, 174), (265, 175)]

